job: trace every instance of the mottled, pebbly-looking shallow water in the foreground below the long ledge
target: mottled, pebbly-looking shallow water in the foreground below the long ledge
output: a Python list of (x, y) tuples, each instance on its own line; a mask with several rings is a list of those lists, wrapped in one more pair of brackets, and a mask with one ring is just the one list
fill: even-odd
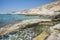
[(20, 29), (16, 33), (8, 34), (6, 36), (1, 36), (0, 40), (32, 40), (36, 34), (29, 29)]

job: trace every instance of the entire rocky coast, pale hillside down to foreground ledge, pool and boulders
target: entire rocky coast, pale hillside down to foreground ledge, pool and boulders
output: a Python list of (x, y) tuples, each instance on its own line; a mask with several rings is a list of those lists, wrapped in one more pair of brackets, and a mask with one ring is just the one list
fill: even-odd
[(40, 16), (48, 19), (23, 20), (9, 27), (2, 27), (0, 40), (60, 40), (60, 1), (7, 14)]

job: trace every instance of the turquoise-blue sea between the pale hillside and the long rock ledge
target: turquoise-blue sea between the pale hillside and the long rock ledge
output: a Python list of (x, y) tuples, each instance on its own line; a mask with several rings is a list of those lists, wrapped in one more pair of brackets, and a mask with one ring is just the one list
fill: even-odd
[(38, 16), (25, 16), (18, 14), (0, 14), (0, 27), (8, 24), (14, 24), (22, 20), (40, 19)]

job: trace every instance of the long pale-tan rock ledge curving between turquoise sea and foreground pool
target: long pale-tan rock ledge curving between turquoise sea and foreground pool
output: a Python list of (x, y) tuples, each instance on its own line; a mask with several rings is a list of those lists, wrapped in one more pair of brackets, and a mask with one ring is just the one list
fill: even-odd
[(45, 21), (51, 21), (50, 19), (36, 19), (36, 20), (25, 20), (25, 21), (22, 21), (20, 23), (17, 23), (17, 24), (14, 24), (14, 25), (11, 25), (10, 27), (7, 27), (7, 28), (3, 28), (3, 29), (0, 29), (0, 35), (4, 35), (6, 33), (9, 33), (9, 32), (12, 32), (12, 31), (15, 31), (17, 29), (21, 29), (21, 28), (25, 28), (27, 27), (28, 25), (33, 25), (33, 24), (38, 24), (40, 22), (45, 22)]

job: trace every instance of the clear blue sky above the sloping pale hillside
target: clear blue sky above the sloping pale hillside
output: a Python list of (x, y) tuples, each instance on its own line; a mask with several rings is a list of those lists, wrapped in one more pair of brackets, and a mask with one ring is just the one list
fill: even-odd
[(38, 7), (54, 0), (0, 0), (0, 13)]

